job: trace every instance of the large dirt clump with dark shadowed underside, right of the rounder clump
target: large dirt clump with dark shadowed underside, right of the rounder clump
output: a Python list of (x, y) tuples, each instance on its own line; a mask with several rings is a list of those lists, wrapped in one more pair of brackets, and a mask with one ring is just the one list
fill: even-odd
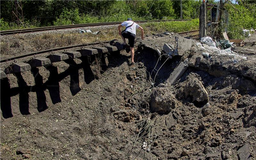
[(196, 73), (190, 73), (184, 82), (178, 86), (178, 95), (180, 99), (187, 99), (196, 104), (205, 104), (208, 102), (208, 95), (200, 83), (201, 78)]

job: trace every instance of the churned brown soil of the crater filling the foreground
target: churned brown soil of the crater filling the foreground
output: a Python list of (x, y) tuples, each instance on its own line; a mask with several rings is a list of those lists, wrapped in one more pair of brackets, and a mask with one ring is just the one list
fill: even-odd
[[(42, 88), (48, 109), (38, 112), (29, 106), (29, 115), (19, 113), (21, 95), (27, 97), (22, 93), (40, 96), (20, 86), (38, 87), (39, 80), (31, 73), (30, 78), (28, 73), (14, 76), (10, 85), (19, 81), (14, 88), (20, 96), (17, 108), (12, 107), (15, 116), (1, 119), (1, 158), (255, 159), (256, 56), (228, 65), (220, 63), (225, 56), (203, 57), (174, 85), (166, 83), (180, 61), (200, 56), (197, 50), (188, 51), (156, 65), (158, 54), (144, 47), (136, 50), (134, 65), (128, 65), (129, 54), (122, 51), (108, 55), (108, 65), (97, 63), (97, 57), (77, 60), (90, 63), (73, 65), (76, 72), (66, 62), (39, 68), (42, 83), (48, 80), (63, 92), (53, 103), (56, 86), (52, 96), (51, 89)], [(31, 82), (24, 84), (18, 77)], [(64, 101), (72, 90), (73, 98)], [(26, 102), (42, 104), (38, 98)]]

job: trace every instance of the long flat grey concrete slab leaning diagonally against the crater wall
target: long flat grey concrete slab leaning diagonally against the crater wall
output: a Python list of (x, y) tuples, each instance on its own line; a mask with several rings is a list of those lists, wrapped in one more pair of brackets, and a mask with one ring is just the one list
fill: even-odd
[(180, 77), (183, 75), (183, 73), (187, 70), (188, 64), (186, 61), (180, 62), (180, 64), (174, 69), (174, 71), (171, 73), (168, 82), (173, 85), (177, 82), (177, 80), (180, 79)]

